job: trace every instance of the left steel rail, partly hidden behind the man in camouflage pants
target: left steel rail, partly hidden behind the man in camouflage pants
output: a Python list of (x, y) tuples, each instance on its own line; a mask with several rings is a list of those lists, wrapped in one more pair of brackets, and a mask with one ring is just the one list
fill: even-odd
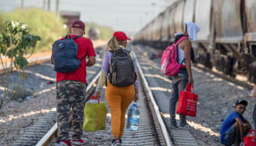
[[(89, 85), (86, 87), (86, 94), (90, 93), (89, 91), (91, 91), (92, 87), (94, 86), (94, 82), (96, 82), (99, 78), (101, 74), (101, 71), (99, 71), (99, 73), (96, 75), (96, 77), (94, 77), (93, 80), (91, 80), (91, 82), (89, 83)], [(70, 111), (72, 112), (72, 110)], [(69, 113), (70, 114), (70, 113)], [(39, 140), (39, 142), (37, 142), (36, 146), (46, 146), (49, 145), (51, 140), (53, 139), (53, 137), (55, 137), (55, 135), (57, 134), (57, 130), (58, 130), (58, 124), (57, 122), (53, 125), (52, 128), (50, 128), (50, 130), (48, 131), (48, 133), (46, 133), (42, 139)]]

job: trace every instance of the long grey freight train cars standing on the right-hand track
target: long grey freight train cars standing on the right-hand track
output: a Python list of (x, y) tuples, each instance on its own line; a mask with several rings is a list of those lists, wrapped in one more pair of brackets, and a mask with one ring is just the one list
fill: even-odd
[(134, 43), (164, 50), (184, 23), (200, 27), (192, 46), (197, 63), (235, 77), (256, 79), (256, 1), (178, 0), (137, 34)]

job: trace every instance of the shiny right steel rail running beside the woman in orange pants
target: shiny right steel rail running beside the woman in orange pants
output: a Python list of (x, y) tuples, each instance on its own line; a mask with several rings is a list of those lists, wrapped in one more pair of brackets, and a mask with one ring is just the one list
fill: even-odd
[(171, 146), (172, 142), (170, 140), (169, 133), (168, 133), (167, 128), (165, 126), (164, 120), (162, 119), (162, 115), (160, 114), (157, 102), (154, 100), (153, 93), (152, 93), (151, 89), (149, 88), (148, 82), (146, 80), (146, 77), (143, 74), (142, 69), (140, 68), (140, 64), (139, 64), (138, 60), (136, 60), (136, 63), (138, 65), (138, 70), (140, 72), (140, 77), (142, 78), (144, 87), (146, 88), (146, 92), (148, 93), (149, 99), (151, 100), (152, 107), (154, 107), (154, 112), (157, 115), (157, 122), (159, 123), (159, 127), (161, 129), (161, 133), (162, 133), (162, 137), (165, 141), (165, 145)]

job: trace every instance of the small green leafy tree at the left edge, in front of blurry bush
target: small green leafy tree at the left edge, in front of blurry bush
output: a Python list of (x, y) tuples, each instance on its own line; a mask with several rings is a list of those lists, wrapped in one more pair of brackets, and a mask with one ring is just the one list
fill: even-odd
[[(25, 77), (25, 69), (29, 62), (25, 57), (27, 51), (36, 47), (40, 37), (29, 34), (29, 28), (18, 21), (8, 20), (4, 24), (5, 31), (0, 34), (0, 60), (1, 60), (1, 71), (4, 73), (4, 77), (0, 79), (0, 84), (4, 85), (4, 94), (0, 96), (0, 110), (3, 105), (7, 104), (6, 99), (8, 88), (7, 88), (7, 77), (13, 69), (17, 69), (19, 72), (18, 85), (20, 83), (20, 77)], [(8, 59), (8, 61), (6, 61)], [(12, 91), (12, 99), (15, 96), (15, 91)]]

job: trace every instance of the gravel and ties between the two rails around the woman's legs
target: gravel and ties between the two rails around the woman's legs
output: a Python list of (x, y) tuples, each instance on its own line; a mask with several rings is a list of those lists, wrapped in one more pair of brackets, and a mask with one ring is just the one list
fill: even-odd
[[(153, 134), (151, 125), (148, 120), (148, 112), (146, 111), (145, 104), (143, 102), (143, 95), (142, 88), (139, 89), (139, 96), (140, 100), (138, 101), (138, 106), (140, 110), (140, 124), (138, 131), (131, 131), (128, 130), (126, 127), (124, 128), (124, 135), (122, 137), (123, 145), (132, 146), (132, 145), (157, 145), (156, 144), (156, 137)], [(105, 88), (102, 89), (101, 92), (101, 101), (106, 103), (106, 107), (108, 108), (108, 115), (106, 118), (106, 127), (105, 130), (100, 130), (96, 132), (90, 131), (83, 131), (82, 139), (85, 142), (85, 145), (90, 146), (98, 146), (98, 145), (111, 145), (112, 142), (112, 128), (111, 128), (111, 113), (110, 107), (108, 106), (108, 102), (105, 99)], [(130, 107), (132, 107), (132, 103), (127, 108), (127, 112)], [(127, 118), (126, 118), (127, 120)], [(127, 122), (126, 122), (127, 123)], [(127, 125), (125, 125), (127, 126)], [(159, 130), (159, 129), (158, 129)], [(69, 131), (69, 137), (72, 137), (72, 129)], [(56, 145), (56, 139), (53, 140), (51, 145)]]

